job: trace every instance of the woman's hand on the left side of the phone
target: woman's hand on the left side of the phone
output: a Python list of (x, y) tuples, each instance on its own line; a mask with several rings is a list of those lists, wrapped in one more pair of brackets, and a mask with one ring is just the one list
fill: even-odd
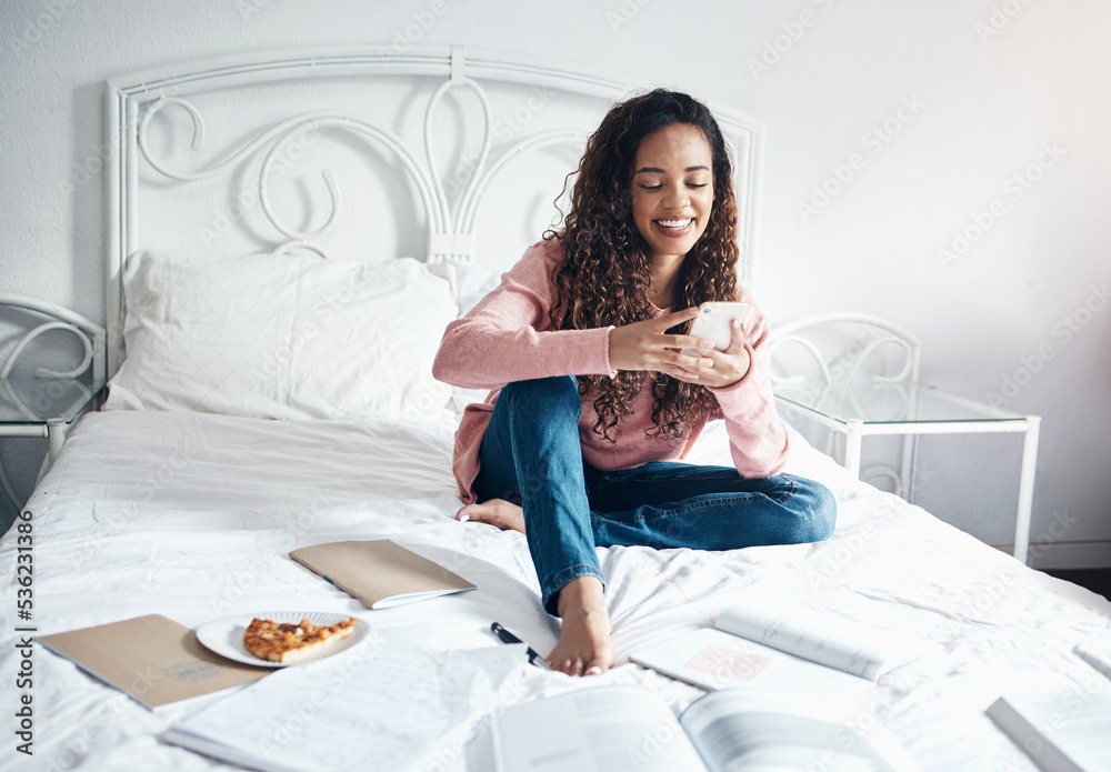
[(713, 367), (708, 355), (691, 357), (681, 349), (701, 354), (713, 350), (713, 341), (692, 335), (667, 334), (667, 331), (698, 315), (698, 307), (675, 311), (659, 319), (622, 324), (610, 331), (610, 367), (615, 370), (653, 370), (680, 381), (699, 382), (699, 373)]

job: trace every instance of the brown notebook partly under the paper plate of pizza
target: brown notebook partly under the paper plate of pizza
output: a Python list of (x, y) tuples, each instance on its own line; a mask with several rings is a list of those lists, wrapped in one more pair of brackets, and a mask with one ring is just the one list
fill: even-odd
[(147, 708), (241, 686), (273, 672), (209, 651), (192, 629), (161, 614), (34, 640)]

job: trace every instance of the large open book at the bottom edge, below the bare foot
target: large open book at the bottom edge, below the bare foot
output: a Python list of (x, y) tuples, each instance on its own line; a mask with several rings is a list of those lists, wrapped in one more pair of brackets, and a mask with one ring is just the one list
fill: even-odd
[(801, 703), (725, 689), (693, 702), (679, 720), (635, 686), (579, 689), (513, 705), (471, 746), (471, 768), (500, 772), (917, 772), (882, 728), (857, 729)]

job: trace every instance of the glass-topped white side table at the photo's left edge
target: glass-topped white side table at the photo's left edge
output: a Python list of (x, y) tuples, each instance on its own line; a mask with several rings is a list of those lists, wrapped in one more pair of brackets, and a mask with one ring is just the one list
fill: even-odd
[(104, 379), (0, 378), (0, 437), (42, 437), (49, 442), (48, 468), (66, 441), (66, 430), (96, 408)]

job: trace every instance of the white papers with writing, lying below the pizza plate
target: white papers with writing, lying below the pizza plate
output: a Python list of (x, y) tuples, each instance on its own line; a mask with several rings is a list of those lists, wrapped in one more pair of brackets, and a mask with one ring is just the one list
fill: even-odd
[(477, 719), (527, 662), (519, 645), (440, 652), (371, 642), (274, 673), (166, 739), (261, 770), (400, 772)]

